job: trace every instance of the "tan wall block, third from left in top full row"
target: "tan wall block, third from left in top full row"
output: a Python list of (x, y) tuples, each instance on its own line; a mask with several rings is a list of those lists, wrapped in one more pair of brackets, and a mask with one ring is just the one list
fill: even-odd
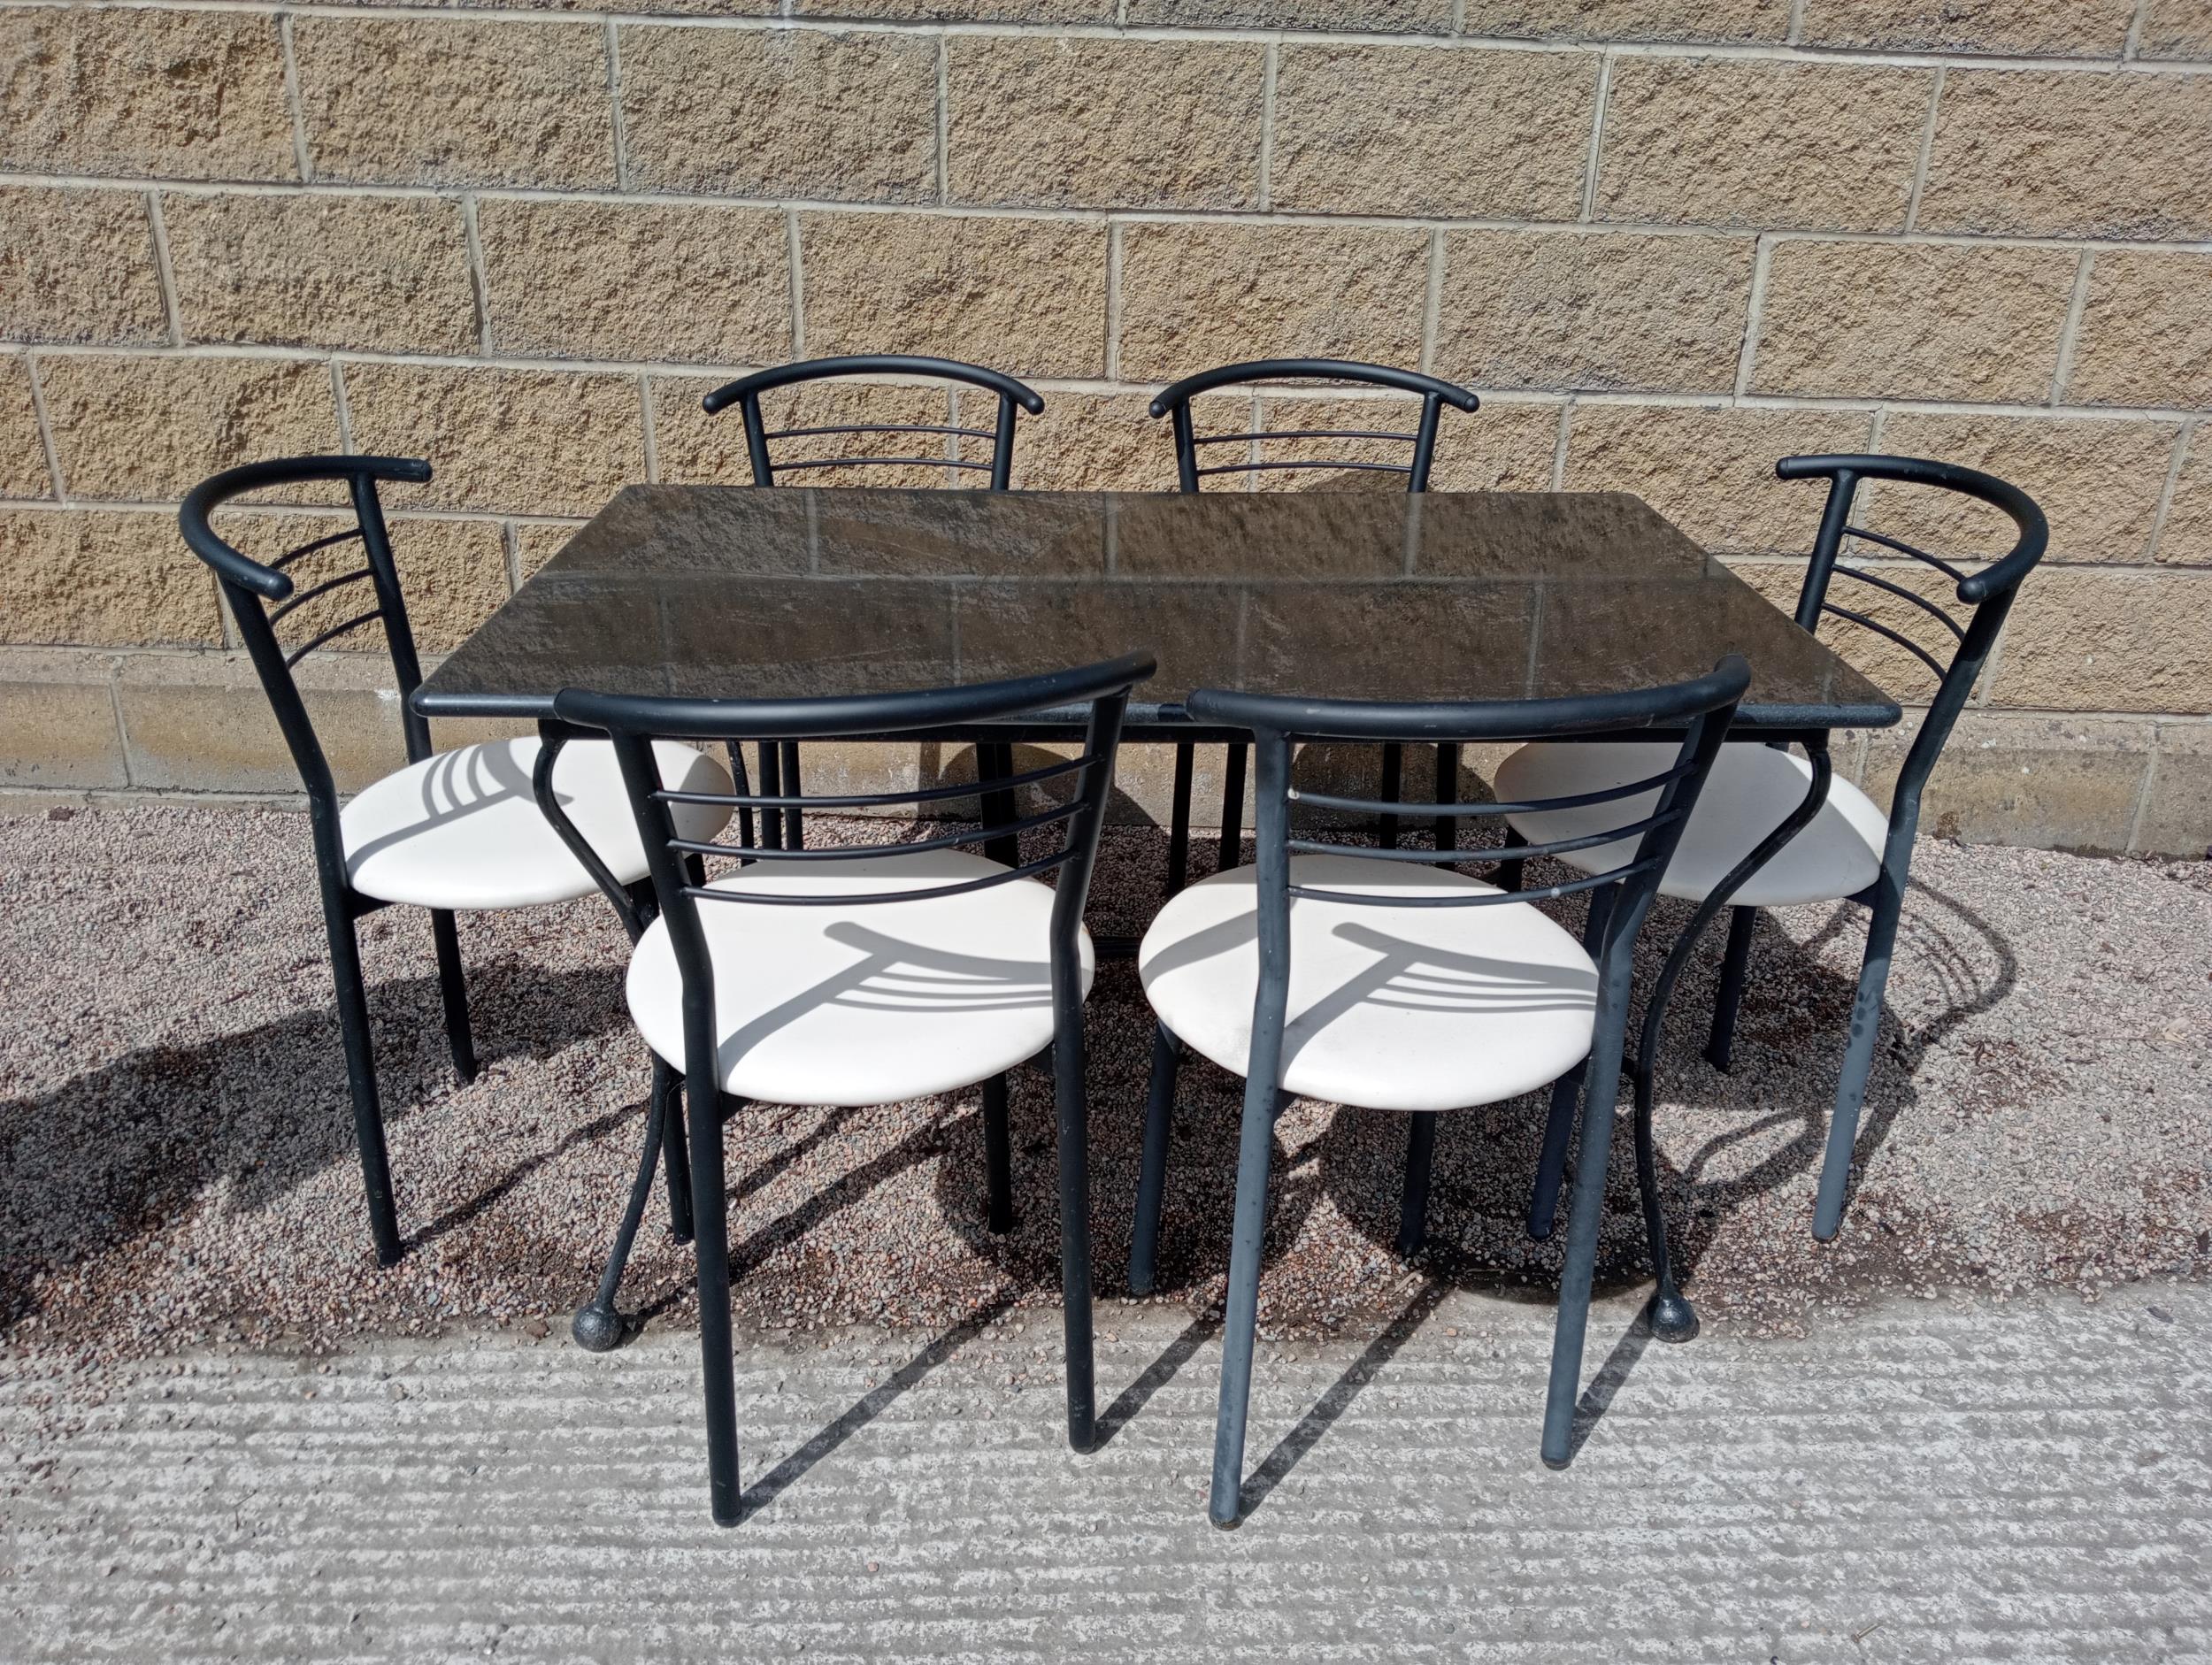
[(929, 35), (633, 27), (619, 35), (630, 184), (730, 197), (929, 201)]

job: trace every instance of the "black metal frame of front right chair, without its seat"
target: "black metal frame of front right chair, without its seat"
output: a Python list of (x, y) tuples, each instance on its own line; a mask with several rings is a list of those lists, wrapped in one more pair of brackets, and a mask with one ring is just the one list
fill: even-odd
[[(1214, 1424), (1214, 1477), (1208, 1512), (1217, 1526), (1234, 1526), (1241, 1512), (1243, 1488), (1243, 1442), (1245, 1411), (1252, 1391), (1252, 1342), (1259, 1311), (1259, 1267), (1261, 1238), (1267, 1223), (1267, 1163), (1274, 1145), (1274, 1119), (1281, 1112), (1283, 1079), (1283, 1028), (1290, 1004), (1290, 902), (1292, 898), (1329, 900), (1349, 907), (1376, 902), (1407, 907), (1520, 907), (1522, 896), (1511, 891), (1444, 891), (1422, 898), (1374, 898), (1325, 887), (1298, 884), (1290, 873), (1290, 858), (1301, 851), (1334, 851), (1343, 845), (1323, 845), (1294, 838), (1290, 831), (1292, 807), (1301, 800), (1290, 781), (1292, 750), (1301, 741), (1371, 741), (1371, 743), (1467, 743), (1502, 739), (1566, 739), (1586, 734), (1619, 732), (1672, 732), (1681, 734), (1677, 767), (1668, 772), (1655, 814), (1632, 823), (1639, 831), (1635, 851), (1619, 867), (1595, 876), (1588, 884), (1559, 884), (1546, 893), (1601, 887), (1613, 891), (1615, 904), (1601, 931), (1601, 942), (1593, 955), (1599, 966), (1599, 1010), (1597, 1037), (1590, 1048), (1590, 1092), (1584, 1110), (1584, 1150), (1606, 1152), (1613, 1137), (1613, 1103), (1619, 1086), (1621, 1041), (1626, 1035), (1626, 1004), (1630, 957), (1637, 931), (1659, 889), (1659, 876), (1674, 854), (1681, 827), (1697, 805), (1712, 758), (1719, 754), (1736, 701), (1750, 685), (1750, 668), (1743, 659), (1728, 657), (1710, 674), (1672, 688), (1646, 688), (1615, 694), (1593, 694), (1584, 699), (1546, 701), (1498, 701), (1482, 705), (1455, 703), (1385, 703), (1385, 701), (1338, 701), (1338, 699), (1283, 699), (1270, 694), (1243, 694), (1223, 690), (1199, 690), (1190, 697), (1194, 721), (1239, 727), (1252, 734), (1259, 765), (1259, 840), (1256, 840), (1256, 898), (1259, 913), (1259, 988), (1252, 1002), (1252, 1053), (1245, 1072), (1243, 1132), (1237, 1163), (1237, 1212), (1230, 1236), (1230, 1280), (1223, 1318), (1221, 1353), (1221, 1406)], [(1628, 798), (1641, 783), (1624, 785), (1597, 800)], [(1586, 794), (1588, 798), (1588, 794)], [(1332, 798), (1334, 805), (1385, 814), (1394, 803), (1360, 803)], [(1500, 805), (1429, 803), (1407, 805), (1451, 818), (1504, 814)], [(1548, 807), (1548, 805), (1546, 805)], [(1604, 836), (1604, 842), (1619, 838), (1626, 829)], [(1411, 862), (1453, 862), (1460, 851), (1398, 849), (1371, 851), (1371, 856)], [(1148, 1114), (1148, 1123), (1152, 1117)], [(1411, 1172), (1402, 1214), (1402, 1234), (1420, 1223), (1427, 1207), (1425, 1170), (1431, 1145), (1416, 1134), (1409, 1148)], [(1566, 1442), (1573, 1420), (1575, 1391), (1582, 1373), (1582, 1340), (1588, 1324), (1590, 1278), (1597, 1256), (1597, 1225), (1604, 1190), (1604, 1159), (1586, 1161), (1575, 1174), (1573, 1218), (1566, 1245), (1566, 1274), (1559, 1287), (1559, 1322), (1553, 1340), (1551, 1391), (1544, 1411), (1544, 1457), (1566, 1459)], [(1146, 1183), (1146, 1190), (1150, 1185)], [(1157, 1221), (1157, 1203), (1155, 1203)], [(1157, 1232), (1157, 1225), (1155, 1225)], [(1146, 1252), (1150, 1260), (1150, 1252)], [(1133, 1258), (1135, 1265), (1135, 1258)]]

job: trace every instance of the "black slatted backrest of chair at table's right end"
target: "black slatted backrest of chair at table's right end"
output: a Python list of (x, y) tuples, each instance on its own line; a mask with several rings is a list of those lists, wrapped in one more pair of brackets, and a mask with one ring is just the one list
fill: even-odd
[[(1953, 462), (1885, 455), (1801, 455), (1783, 458), (1774, 464), (1774, 473), (1783, 480), (1829, 482), (1827, 506), (1820, 513), (1820, 531), (1814, 537), (1812, 559), (1805, 568), (1805, 584), (1798, 590), (1798, 626), (1805, 630), (1818, 630), (1823, 617), (1845, 619), (1902, 648), (1936, 674), (1936, 694), (1929, 701), (1929, 712), (1920, 723), (1920, 732), (1913, 736), (1911, 750), (1905, 754), (1905, 767), (1898, 772), (1898, 785), (1891, 794), (1891, 840), (1902, 836), (1909, 845), (1913, 827), (1920, 818), (1920, 789), (1927, 785), (1929, 772), (1936, 767), (1936, 758), (1942, 756), (1944, 741), (1951, 739), (1951, 727), (1958, 723), (1958, 714), (1964, 710), (1975, 681), (1980, 681), (1982, 668), (1989, 663), (1991, 648), (1997, 646), (1997, 635), (2004, 630), (2004, 617), (2013, 610), (2013, 597), (2020, 593), (2022, 579), (2026, 579), (2035, 564), (2044, 557), (2044, 548), (2051, 542), (2051, 526), (2044, 522), (2044, 511), (2037, 509), (2028, 493), (2020, 486), (1997, 480), (1995, 475), (1980, 473), (1978, 469), (1962, 469)], [(2013, 548), (2000, 559), (1966, 573), (1940, 555), (1929, 555), (1924, 548), (1907, 544), (1902, 537), (1891, 537), (1889, 533), (1878, 533), (1867, 526), (1854, 526), (1851, 511), (1858, 502), (1858, 489), (1867, 480), (1896, 480), (1916, 486), (1936, 486), (1938, 491), (1953, 491), (1986, 502), (2013, 522)], [(1960, 624), (1960, 619), (1953, 617), (1953, 612), (1940, 601), (1933, 601), (1896, 579), (1858, 566), (1847, 566), (1840, 559), (1845, 537), (1856, 537), (1876, 548), (1907, 555), (1936, 573), (1942, 573), (1942, 577), (1951, 579), (1955, 586), (1960, 606), (1973, 608), (1966, 615), (1966, 621)], [(1951, 661), (1944, 663), (1922, 643), (1913, 641), (1902, 630), (1882, 624), (1869, 612), (1863, 612), (1858, 606), (1832, 601), (1829, 586), (1838, 577), (1865, 584), (1869, 590), (1887, 593), (1936, 619), (1944, 635), (1949, 635), (1955, 643), (1951, 648)]]

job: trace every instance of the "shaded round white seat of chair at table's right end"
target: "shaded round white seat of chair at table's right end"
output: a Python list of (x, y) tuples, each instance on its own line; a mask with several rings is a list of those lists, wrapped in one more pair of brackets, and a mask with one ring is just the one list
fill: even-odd
[[(1491, 785), (1504, 803), (1564, 798), (1650, 781), (1672, 769), (1674, 758), (1677, 747), (1650, 741), (1524, 745), (1498, 765)], [(1812, 763), (1794, 752), (1750, 741), (1723, 745), (1697, 809), (1690, 811), (1690, 825), (1674, 847), (1674, 860), (1659, 882), (1659, 893), (1703, 902), (1736, 862), (1759, 849), (1759, 842), (1805, 803), (1809, 785)], [(1652, 789), (1582, 809), (1546, 809), (1506, 820), (1531, 845), (1546, 845), (1641, 820), (1657, 807), (1659, 792)], [(1752, 873), (1732, 900), (1741, 907), (1792, 907), (1858, 896), (1880, 876), (1887, 838), (1889, 818), (1880, 807), (1849, 781), (1832, 778), (1827, 803), (1812, 825)], [(1635, 842), (1617, 838), (1568, 851), (1559, 860), (1584, 873), (1601, 873), (1632, 856)]]

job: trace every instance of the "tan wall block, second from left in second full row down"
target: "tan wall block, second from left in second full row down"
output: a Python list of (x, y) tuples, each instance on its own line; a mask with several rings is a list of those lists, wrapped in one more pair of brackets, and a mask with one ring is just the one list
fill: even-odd
[(460, 203), (166, 197), (188, 341), (476, 352)]

